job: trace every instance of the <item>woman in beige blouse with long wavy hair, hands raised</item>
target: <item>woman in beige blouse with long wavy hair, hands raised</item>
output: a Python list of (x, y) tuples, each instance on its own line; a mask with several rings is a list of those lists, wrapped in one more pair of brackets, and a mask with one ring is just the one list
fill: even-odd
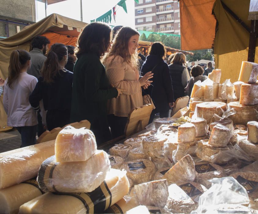
[(108, 121), (113, 138), (123, 135), (131, 109), (143, 105), (141, 87), (147, 87), (152, 82), (149, 81), (153, 75), (151, 72), (139, 79), (138, 40), (137, 31), (129, 27), (121, 28), (103, 60), (110, 84), (126, 90), (120, 97), (108, 100)]

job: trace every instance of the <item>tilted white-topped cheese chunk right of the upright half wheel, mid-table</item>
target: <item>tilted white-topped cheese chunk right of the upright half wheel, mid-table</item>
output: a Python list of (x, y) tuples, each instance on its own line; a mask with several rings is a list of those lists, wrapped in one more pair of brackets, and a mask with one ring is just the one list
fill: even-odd
[(225, 147), (231, 136), (230, 129), (218, 123), (212, 128), (208, 144), (211, 146)]

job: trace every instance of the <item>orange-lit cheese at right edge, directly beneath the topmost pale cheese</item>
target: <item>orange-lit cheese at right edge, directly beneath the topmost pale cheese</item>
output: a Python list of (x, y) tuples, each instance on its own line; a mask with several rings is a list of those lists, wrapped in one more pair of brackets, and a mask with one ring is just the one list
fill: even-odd
[(242, 105), (258, 104), (258, 83), (243, 83), (241, 85), (239, 103)]

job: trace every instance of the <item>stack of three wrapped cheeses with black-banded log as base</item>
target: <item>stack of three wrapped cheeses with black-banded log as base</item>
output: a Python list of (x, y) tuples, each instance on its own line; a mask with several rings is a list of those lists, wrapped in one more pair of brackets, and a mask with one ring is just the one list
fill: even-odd
[(22, 205), (19, 213), (103, 212), (129, 190), (125, 172), (109, 171), (108, 154), (97, 150), (92, 131), (65, 127), (57, 135), (55, 155), (39, 169), (39, 187), (47, 193)]

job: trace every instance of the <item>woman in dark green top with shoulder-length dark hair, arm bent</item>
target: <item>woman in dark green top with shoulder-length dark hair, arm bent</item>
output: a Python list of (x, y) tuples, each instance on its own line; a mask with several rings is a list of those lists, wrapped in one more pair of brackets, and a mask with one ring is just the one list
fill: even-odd
[(90, 121), (97, 144), (111, 140), (107, 122), (107, 100), (119, 97), (123, 90), (110, 87), (100, 57), (111, 47), (111, 28), (100, 22), (88, 24), (76, 44), (71, 122)]

